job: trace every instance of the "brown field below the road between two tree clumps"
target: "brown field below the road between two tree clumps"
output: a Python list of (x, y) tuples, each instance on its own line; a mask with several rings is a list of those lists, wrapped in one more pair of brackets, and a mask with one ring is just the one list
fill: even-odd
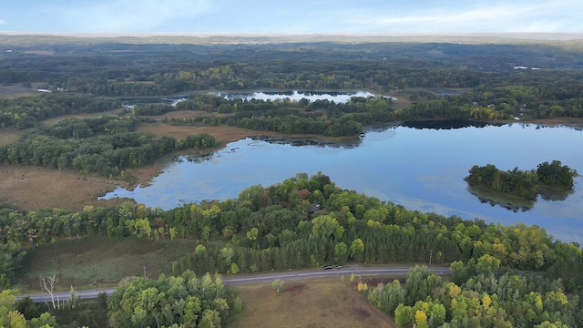
[(233, 327), (398, 327), (348, 279), (284, 282), (284, 291), (279, 293), (271, 283), (237, 289), (244, 309)]

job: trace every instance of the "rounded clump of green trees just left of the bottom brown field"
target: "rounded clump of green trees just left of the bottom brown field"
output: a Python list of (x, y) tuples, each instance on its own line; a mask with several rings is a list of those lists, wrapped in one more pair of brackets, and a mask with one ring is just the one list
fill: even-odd
[(111, 327), (221, 327), (241, 309), (220, 275), (208, 272), (200, 279), (191, 271), (155, 281), (136, 277), (107, 300)]

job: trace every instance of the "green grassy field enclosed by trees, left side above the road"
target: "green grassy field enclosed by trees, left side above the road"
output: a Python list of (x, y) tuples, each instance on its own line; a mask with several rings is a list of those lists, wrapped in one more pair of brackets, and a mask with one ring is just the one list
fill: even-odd
[(16, 280), (22, 292), (40, 292), (39, 277), (57, 272), (56, 288), (68, 291), (117, 285), (129, 276), (157, 279), (172, 272), (172, 261), (194, 251), (196, 241), (108, 241), (87, 237), (57, 241), (26, 250), (24, 268)]

